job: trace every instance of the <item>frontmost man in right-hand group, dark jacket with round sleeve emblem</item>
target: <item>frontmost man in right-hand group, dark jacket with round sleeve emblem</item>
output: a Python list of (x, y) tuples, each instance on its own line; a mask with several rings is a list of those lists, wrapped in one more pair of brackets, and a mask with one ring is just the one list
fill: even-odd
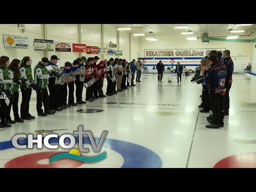
[(227, 68), (218, 61), (215, 54), (210, 55), (208, 60), (211, 67), (206, 71), (205, 84), (209, 85), (210, 89), (213, 121), (210, 125), (206, 125), (206, 127), (219, 129), (224, 126)]

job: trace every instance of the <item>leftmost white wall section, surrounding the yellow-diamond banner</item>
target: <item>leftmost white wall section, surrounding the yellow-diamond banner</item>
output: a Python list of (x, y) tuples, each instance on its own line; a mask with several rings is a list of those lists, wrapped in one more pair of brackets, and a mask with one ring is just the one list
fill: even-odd
[(0, 36), (3, 39), (5, 35), (20, 35), (29, 37), (29, 49), (6, 49), (4, 48), (3, 42), (0, 46), (0, 53), (13, 59), (21, 60), (25, 56), (29, 56), (32, 60), (32, 65), (35, 66), (43, 57), (45, 57), (44, 51), (34, 51), (34, 38), (44, 39), (44, 25), (42, 24), (26, 24), (26, 32), (22, 33), (22, 28), (18, 28), (17, 24), (1, 24), (0, 25)]

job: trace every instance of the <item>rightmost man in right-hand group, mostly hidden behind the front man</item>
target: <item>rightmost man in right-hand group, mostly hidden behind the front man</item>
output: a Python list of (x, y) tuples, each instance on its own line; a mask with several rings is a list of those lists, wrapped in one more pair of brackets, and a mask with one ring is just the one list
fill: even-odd
[(223, 64), (227, 67), (227, 79), (226, 79), (226, 95), (225, 95), (225, 115), (229, 115), (229, 90), (232, 85), (232, 74), (234, 71), (234, 62), (230, 57), (230, 51), (223, 51)]

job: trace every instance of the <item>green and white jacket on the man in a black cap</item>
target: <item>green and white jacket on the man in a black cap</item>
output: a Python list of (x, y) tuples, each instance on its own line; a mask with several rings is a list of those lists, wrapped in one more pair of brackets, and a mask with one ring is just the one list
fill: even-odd
[(44, 64), (39, 61), (34, 69), (35, 84), (39, 89), (45, 89), (47, 87), (47, 81), (50, 78), (48, 70)]

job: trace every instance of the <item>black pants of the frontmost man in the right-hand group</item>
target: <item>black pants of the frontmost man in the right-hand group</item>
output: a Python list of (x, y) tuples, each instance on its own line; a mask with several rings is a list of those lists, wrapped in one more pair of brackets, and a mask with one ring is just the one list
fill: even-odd
[(213, 124), (223, 124), (224, 108), (225, 108), (225, 96), (211, 95)]

